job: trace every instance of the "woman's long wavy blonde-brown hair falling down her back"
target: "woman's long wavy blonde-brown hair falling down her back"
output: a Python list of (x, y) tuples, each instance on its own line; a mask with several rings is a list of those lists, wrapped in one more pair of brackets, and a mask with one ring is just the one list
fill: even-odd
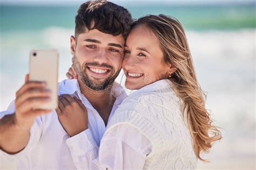
[(173, 90), (183, 101), (183, 117), (193, 139), (194, 152), (198, 159), (206, 161), (200, 152), (208, 153), (214, 141), (221, 139), (221, 133), (205, 108), (206, 95), (198, 84), (183, 27), (177, 19), (165, 15), (139, 18), (132, 29), (138, 25), (152, 31), (164, 52), (164, 61), (177, 68), (166, 79), (172, 81)]

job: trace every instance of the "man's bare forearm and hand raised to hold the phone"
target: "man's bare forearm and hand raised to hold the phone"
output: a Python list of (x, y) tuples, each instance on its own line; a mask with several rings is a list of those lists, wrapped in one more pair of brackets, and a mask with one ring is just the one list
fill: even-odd
[(37, 105), (49, 102), (50, 91), (43, 82), (28, 81), (16, 93), (15, 113), (0, 119), (0, 148), (6, 153), (17, 153), (26, 146), (30, 137), (30, 129), (37, 116), (47, 114), (51, 110), (33, 109)]

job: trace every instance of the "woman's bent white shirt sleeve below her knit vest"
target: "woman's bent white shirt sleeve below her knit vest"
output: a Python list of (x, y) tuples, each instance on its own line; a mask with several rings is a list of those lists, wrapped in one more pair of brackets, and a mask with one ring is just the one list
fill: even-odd
[(67, 144), (77, 169), (143, 169), (152, 148), (150, 140), (129, 124), (111, 128), (99, 147), (89, 129)]

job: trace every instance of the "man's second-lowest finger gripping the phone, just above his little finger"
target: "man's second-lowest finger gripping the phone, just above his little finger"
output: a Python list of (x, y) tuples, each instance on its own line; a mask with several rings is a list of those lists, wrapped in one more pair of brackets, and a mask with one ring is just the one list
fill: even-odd
[(42, 104), (49, 103), (51, 100), (48, 97), (35, 97), (21, 103), (16, 110), (19, 112), (29, 112), (32, 108), (36, 108)]

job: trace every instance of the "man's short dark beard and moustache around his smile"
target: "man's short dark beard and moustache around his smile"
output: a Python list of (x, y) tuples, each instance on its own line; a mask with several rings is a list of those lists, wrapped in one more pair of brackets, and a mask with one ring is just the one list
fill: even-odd
[[(97, 78), (94, 78), (95, 80), (90, 79), (89, 75), (86, 73), (86, 69), (88, 66), (96, 66), (96, 67), (106, 67), (111, 69), (110, 75), (105, 80), (100, 81)], [(111, 86), (118, 76), (120, 70), (114, 74), (115, 69), (111, 65), (107, 65), (106, 63), (99, 64), (98, 62), (86, 62), (84, 65), (80, 65), (79, 61), (77, 60), (77, 57), (73, 56), (73, 67), (75, 68), (77, 74), (80, 76), (80, 80), (85, 84), (85, 86), (89, 87), (92, 90), (104, 90), (107, 88), (107, 86)]]

